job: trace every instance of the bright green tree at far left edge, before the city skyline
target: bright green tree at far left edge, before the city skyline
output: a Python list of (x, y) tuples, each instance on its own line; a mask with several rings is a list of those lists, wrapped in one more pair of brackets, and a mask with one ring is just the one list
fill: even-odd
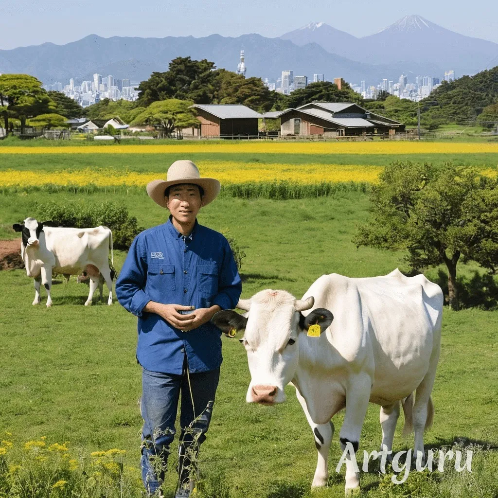
[(5, 124), (12, 116), (21, 122), (24, 133), (26, 119), (55, 111), (55, 103), (41, 87), (41, 81), (27, 74), (0, 76), (0, 106)]

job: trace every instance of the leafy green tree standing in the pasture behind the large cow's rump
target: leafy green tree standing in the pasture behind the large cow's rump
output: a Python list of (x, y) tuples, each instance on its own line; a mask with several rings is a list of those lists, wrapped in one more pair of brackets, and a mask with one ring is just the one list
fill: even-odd
[(414, 270), (445, 264), (451, 308), (458, 309), (457, 263), (496, 272), (498, 181), (472, 168), (394, 162), (371, 193), (372, 216), (356, 243), (405, 250)]

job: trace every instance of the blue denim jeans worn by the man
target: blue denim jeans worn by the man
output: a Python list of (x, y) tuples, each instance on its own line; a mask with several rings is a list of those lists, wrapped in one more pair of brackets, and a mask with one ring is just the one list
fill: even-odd
[[(200, 433), (196, 444), (201, 444), (206, 439), (211, 410), (205, 409), (209, 401), (215, 400), (220, 369), (190, 373), (189, 377), (192, 397), (189, 389), (186, 359), (181, 375), (150, 372), (142, 368), (140, 410), (143, 418), (143, 429), (140, 466), (143, 484), (150, 493), (159, 489), (164, 479), (169, 445), (176, 432), (175, 419), (180, 393), (180, 441), (183, 442), (184, 446), (192, 442), (192, 433), (188, 430), (185, 431), (185, 428), (189, 427), (195, 417), (197, 419), (192, 428), (194, 432)], [(192, 409), (192, 398), (194, 409)], [(154, 465), (151, 462), (155, 456), (159, 457), (159, 467), (162, 469), (158, 473), (154, 471), (154, 467), (158, 468), (157, 464)]]

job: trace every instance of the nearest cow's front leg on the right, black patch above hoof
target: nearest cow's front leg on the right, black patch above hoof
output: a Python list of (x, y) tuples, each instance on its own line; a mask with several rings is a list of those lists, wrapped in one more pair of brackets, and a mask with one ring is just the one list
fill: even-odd
[[(351, 443), (356, 453), (360, 445), (360, 435), (362, 432), (363, 421), (367, 414), (369, 406), (370, 389), (372, 380), (370, 375), (360, 374), (353, 377), (346, 391), (346, 413), (344, 422), (339, 434), (341, 442), (341, 451), (347, 449), (347, 443)], [(350, 452), (346, 456), (346, 493), (360, 487), (360, 475), (356, 472), (358, 467), (351, 459)]]

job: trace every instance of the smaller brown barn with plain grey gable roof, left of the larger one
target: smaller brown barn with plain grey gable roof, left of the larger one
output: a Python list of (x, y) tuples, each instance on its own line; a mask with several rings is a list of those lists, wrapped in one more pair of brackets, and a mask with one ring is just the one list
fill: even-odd
[[(194, 104), (200, 124), (200, 136), (230, 137), (257, 136), (257, 120), (263, 116), (249, 107), (238, 104)], [(183, 131), (186, 134), (187, 130)], [(192, 134), (197, 136), (194, 131)]]

